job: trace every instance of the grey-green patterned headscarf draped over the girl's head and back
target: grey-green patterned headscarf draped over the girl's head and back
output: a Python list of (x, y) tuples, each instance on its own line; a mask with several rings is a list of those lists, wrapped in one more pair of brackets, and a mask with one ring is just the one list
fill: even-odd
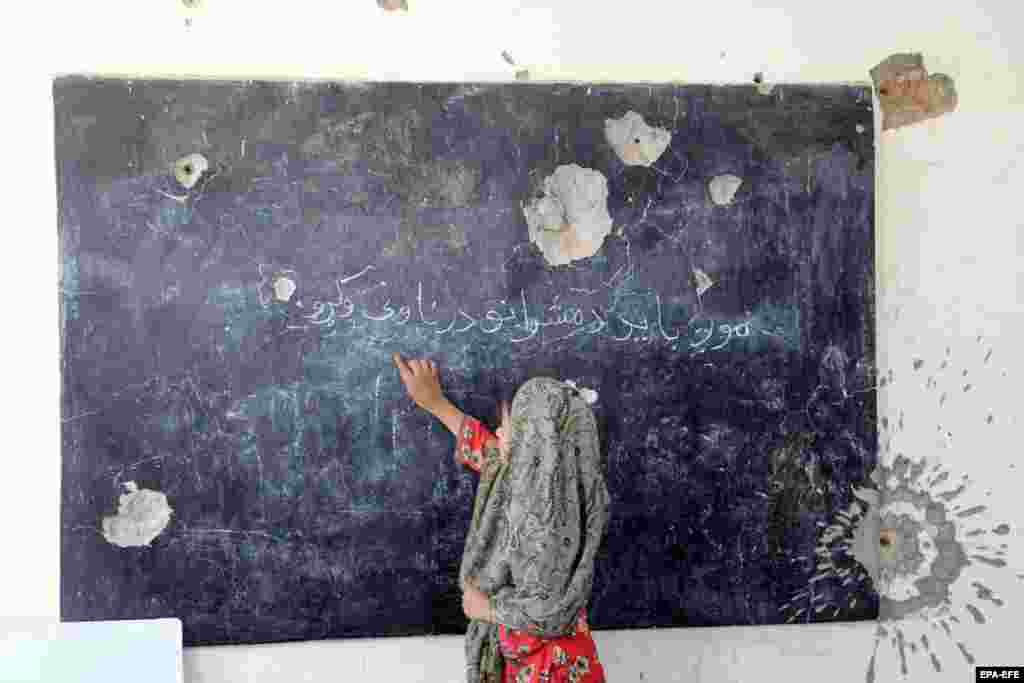
[[(574, 387), (536, 378), (506, 431), (507, 461), (484, 458), (460, 580), (490, 597), (498, 624), (563, 636), (590, 599), (608, 520), (597, 422)], [(468, 683), (501, 680), (497, 625), (470, 622), (466, 660)]]

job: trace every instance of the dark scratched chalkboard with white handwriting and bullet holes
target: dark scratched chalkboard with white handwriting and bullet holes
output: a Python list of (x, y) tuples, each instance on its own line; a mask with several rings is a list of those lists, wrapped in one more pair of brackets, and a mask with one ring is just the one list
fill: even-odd
[[(492, 425), (534, 376), (596, 392), (595, 628), (877, 616), (864, 582), (791, 601), (876, 463), (867, 88), (71, 77), (54, 101), (66, 620), (462, 632), (475, 478), (394, 351)], [(552, 264), (526, 216), (565, 166), (610, 227)]]

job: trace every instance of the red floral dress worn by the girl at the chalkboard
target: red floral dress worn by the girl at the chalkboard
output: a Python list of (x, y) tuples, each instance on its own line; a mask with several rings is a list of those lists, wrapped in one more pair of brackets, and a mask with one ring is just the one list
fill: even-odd
[[(455, 454), (456, 462), (479, 472), (486, 458), (498, 454), (497, 438), (478, 420), (467, 418)], [(505, 683), (605, 683), (586, 610), (581, 610), (572, 631), (559, 638), (542, 638), (504, 625), (498, 626), (498, 637)]]

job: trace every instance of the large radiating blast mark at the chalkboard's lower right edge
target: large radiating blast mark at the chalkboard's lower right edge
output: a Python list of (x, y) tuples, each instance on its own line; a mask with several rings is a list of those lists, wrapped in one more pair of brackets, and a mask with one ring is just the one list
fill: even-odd
[[(988, 350), (982, 364), (988, 364), (991, 356)], [(926, 365), (914, 359), (912, 372), (919, 373)], [(951, 366), (947, 349), (946, 356), (934, 364), (936, 374), (924, 383), (927, 391), (940, 394), (940, 408), (949, 394), (972, 386), (966, 380), (969, 370), (953, 370)], [(879, 388), (894, 380), (895, 374), (889, 371)], [(955, 386), (943, 391), (947, 381)], [(930, 635), (947, 639), (964, 661), (974, 666), (974, 654), (956, 635), (962, 618), (983, 625), (988, 622), (983, 607), (1006, 604), (985, 583), (969, 575), (969, 569), (1007, 568), (1009, 546), (1000, 541), (1010, 535), (1011, 525), (985, 520), (988, 508), (971, 500), (973, 481), (967, 474), (954, 475), (934, 458), (911, 458), (902, 453), (891, 457), (893, 442), (907, 429), (907, 422), (903, 409), (881, 417), (880, 459), (890, 464), (880, 465), (871, 473), (876, 487), (853, 489), (855, 500), (829, 523), (820, 524), (814, 557), (794, 560), (813, 567), (809, 586), (781, 608), (791, 613), (790, 622), (809, 611), (829, 608), (836, 615), (843, 605), (826, 602), (828, 593), (816, 587), (824, 582), (838, 584), (847, 589), (848, 596), (857, 594), (865, 584), (872, 587), (880, 598), (879, 626), (865, 674), (867, 683), (877, 680), (878, 650), (883, 641), (895, 651), (904, 676), (914, 654), (924, 657), (934, 671), (942, 671), (942, 658)], [(985, 422), (992, 424), (991, 414)], [(952, 432), (942, 425), (937, 431), (942, 436), (937, 445), (951, 449)], [(974, 599), (957, 597), (964, 593), (957, 590), (962, 585), (971, 587)]]

